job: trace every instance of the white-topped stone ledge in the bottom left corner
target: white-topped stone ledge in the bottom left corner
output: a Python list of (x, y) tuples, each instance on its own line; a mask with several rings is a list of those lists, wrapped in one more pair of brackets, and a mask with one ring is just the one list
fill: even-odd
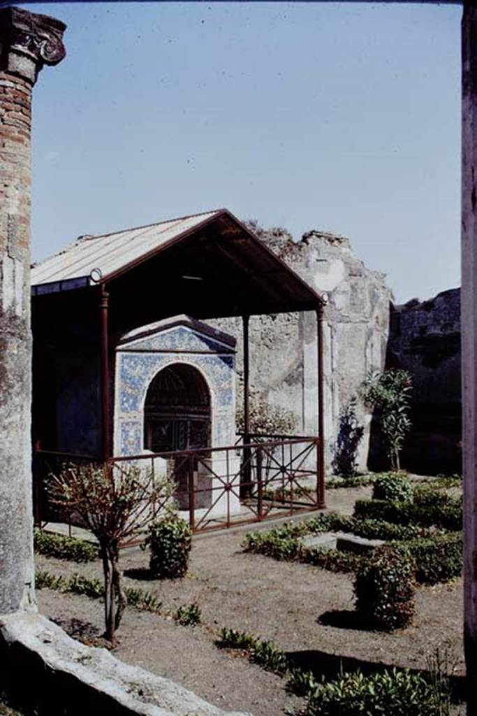
[(48, 716), (251, 716), (225, 712), (170, 679), (87, 647), (41, 614), (0, 616), (0, 680)]

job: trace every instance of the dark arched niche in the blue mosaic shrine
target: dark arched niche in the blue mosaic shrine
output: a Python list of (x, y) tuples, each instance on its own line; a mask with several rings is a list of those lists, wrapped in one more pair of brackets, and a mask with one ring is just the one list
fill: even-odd
[[(144, 403), (144, 448), (152, 453), (197, 450), (210, 447), (210, 392), (197, 368), (174, 363), (152, 379)], [(207, 455), (204, 455), (206, 460)], [(195, 505), (207, 507), (211, 501), (210, 472), (195, 458)], [(198, 475), (198, 473), (206, 473)], [(208, 473), (208, 474), (207, 474)], [(175, 460), (176, 499), (183, 510), (189, 508), (190, 463)]]

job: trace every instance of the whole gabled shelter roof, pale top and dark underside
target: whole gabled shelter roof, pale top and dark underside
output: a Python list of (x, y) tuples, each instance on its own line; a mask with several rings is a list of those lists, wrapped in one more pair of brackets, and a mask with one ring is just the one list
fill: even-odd
[(106, 284), (112, 311), (130, 326), (139, 324), (139, 314), (149, 323), (177, 314), (208, 320), (322, 305), (227, 209), (81, 237), (34, 266), (31, 284), (34, 296), (52, 294), (51, 299), (64, 291), (76, 294), (72, 289), (89, 294)]

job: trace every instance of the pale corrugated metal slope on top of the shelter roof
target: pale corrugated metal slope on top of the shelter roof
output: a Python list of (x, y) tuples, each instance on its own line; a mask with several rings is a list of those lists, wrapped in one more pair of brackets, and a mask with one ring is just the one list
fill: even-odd
[(172, 221), (129, 228), (100, 236), (83, 236), (54, 256), (45, 258), (31, 269), (31, 285), (89, 278), (94, 284), (99, 279), (129, 266), (165, 246), (183, 233), (222, 213), (222, 209), (186, 216)]

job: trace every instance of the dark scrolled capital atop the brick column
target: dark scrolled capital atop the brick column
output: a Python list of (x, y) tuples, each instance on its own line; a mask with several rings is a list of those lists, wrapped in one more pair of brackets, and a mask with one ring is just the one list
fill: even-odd
[(64, 58), (66, 27), (54, 17), (17, 7), (0, 10), (0, 72), (34, 84), (45, 64), (58, 64)]

